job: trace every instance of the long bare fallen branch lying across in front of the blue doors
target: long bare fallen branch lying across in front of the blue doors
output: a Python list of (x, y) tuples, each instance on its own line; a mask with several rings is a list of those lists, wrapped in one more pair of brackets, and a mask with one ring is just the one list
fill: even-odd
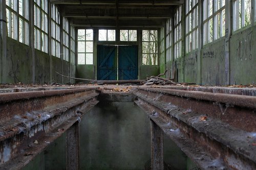
[(55, 71), (55, 72), (58, 75), (62, 76), (62, 77), (66, 77), (66, 78), (74, 79), (74, 80), (89, 81), (89, 83), (96, 83), (96, 84), (126, 84), (126, 83), (144, 84), (144, 82), (145, 82), (145, 80), (93, 80), (93, 79), (81, 79), (81, 78), (74, 78), (74, 77), (64, 76), (64, 75), (61, 75), (57, 71)]

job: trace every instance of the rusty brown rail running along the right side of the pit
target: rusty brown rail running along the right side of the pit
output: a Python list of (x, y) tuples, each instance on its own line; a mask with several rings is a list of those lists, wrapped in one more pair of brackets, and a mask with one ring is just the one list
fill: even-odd
[(144, 90), (144, 91), (151, 91), (155, 93), (170, 94), (170, 95), (176, 95), (176, 96), (181, 96), (185, 98), (193, 98), (197, 100), (212, 101), (212, 102), (218, 102), (218, 103), (225, 103), (228, 105), (256, 109), (255, 96), (210, 93), (210, 92), (202, 92), (202, 91), (185, 91), (185, 90), (162, 89), (162, 88), (146, 88), (146, 87), (138, 87), (138, 89)]

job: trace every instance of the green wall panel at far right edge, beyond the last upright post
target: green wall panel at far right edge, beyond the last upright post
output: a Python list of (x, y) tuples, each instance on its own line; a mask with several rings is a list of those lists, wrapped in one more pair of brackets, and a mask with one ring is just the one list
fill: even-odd
[(256, 26), (230, 38), (230, 84), (256, 84)]

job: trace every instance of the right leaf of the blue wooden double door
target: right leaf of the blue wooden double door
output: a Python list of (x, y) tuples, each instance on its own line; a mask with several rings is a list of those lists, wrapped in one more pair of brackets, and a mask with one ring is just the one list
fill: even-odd
[(138, 46), (118, 46), (118, 80), (138, 79)]

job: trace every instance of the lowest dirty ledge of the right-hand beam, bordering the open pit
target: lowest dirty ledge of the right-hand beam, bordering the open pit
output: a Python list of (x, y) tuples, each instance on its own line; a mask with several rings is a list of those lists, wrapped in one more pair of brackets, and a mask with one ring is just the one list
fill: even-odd
[[(151, 110), (148, 110), (143, 105), (147, 105), (147, 102), (138, 100), (135, 103), (144, 110), (145, 113), (151, 113)], [(207, 154), (202, 147), (199, 147), (193, 140), (190, 138), (185, 137), (179, 130), (175, 133), (167, 131), (167, 129), (171, 129), (172, 127), (166, 127), (166, 123), (161, 122), (161, 119), (149, 116), (151, 120), (153, 120), (162, 130), (163, 132), (172, 139), (178, 147), (190, 158), (192, 159), (200, 168), (202, 169), (209, 169), (209, 166), (212, 164), (212, 161), (215, 160), (214, 157)], [(165, 124), (165, 125), (164, 125)], [(165, 127), (165, 128), (163, 128)], [(204, 156), (204, 159), (200, 159)], [(220, 164), (220, 167), (225, 166), (224, 163)], [(220, 167), (216, 167), (216, 170)]]

